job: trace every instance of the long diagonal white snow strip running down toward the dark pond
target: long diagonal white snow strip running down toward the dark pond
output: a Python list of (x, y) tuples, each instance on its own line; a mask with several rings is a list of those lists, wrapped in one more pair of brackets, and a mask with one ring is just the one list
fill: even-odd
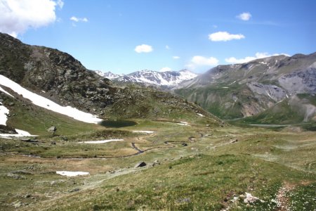
[[(60, 106), (57, 103), (54, 103), (43, 96), (39, 96), (34, 94), (32, 91), (28, 91), (27, 89), (21, 87), (19, 84), (13, 82), (11, 79), (0, 75), (0, 85), (10, 87), (17, 94), (21, 94), (24, 98), (29, 99), (34, 103), (34, 105), (40, 106), (42, 108), (46, 108), (48, 110), (53, 110), (56, 113), (60, 113), (62, 115), (67, 115), (68, 117), (72, 117), (75, 120), (79, 120), (81, 122), (87, 123), (95, 123), (101, 122), (102, 120), (98, 118), (96, 115), (92, 115), (91, 113), (84, 113), (77, 108), (72, 108), (70, 106)], [(2, 90), (1, 90), (2, 91)]]

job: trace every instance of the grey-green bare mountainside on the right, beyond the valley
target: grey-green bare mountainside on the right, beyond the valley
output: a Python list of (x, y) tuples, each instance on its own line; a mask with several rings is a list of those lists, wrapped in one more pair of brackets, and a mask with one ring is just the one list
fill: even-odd
[[(286, 99), (290, 104), (312, 108), (307, 101), (297, 103), (301, 98), (296, 94), (316, 93), (316, 53), (219, 65), (180, 84), (175, 92), (226, 119), (257, 115)], [(315, 113), (310, 113), (311, 110), (305, 109), (302, 120), (313, 118)]]

